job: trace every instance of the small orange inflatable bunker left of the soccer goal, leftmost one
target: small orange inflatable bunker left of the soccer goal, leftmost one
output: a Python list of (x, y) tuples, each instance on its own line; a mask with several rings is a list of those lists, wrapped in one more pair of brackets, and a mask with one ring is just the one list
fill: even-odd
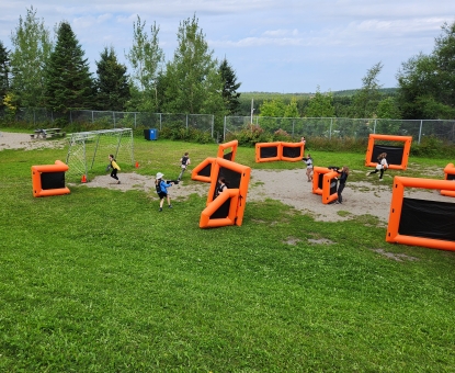
[(55, 165), (32, 166), (33, 196), (69, 194), (65, 187), (65, 172), (68, 166), (60, 160)]

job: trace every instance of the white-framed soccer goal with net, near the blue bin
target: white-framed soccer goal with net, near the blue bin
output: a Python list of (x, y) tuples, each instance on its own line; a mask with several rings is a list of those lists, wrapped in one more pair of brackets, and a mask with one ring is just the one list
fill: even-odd
[(110, 154), (121, 162), (134, 165), (132, 128), (78, 132), (68, 140), (66, 163), (71, 176), (87, 176), (94, 165), (107, 165)]

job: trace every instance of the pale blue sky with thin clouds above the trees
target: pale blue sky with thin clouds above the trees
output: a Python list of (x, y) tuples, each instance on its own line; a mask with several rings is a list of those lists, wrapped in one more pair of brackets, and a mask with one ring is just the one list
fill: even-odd
[(442, 25), (455, 22), (454, 0), (2, 0), (0, 41), (8, 49), (31, 7), (52, 35), (59, 22), (71, 25), (92, 72), (110, 46), (130, 72), (125, 54), (137, 15), (148, 34), (159, 26), (172, 60), (180, 23), (195, 15), (214, 58), (226, 57), (234, 69), (239, 92), (356, 89), (378, 63), (379, 84), (394, 88), (401, 65), (430, 54)]

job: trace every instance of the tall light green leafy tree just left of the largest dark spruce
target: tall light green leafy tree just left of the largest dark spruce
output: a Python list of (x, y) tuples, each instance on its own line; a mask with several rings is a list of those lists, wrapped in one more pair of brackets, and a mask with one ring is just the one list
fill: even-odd
[(26, 16), (19, 18), (15, 32), (11, 33), (11, 87), (20, 105), (36, 108), (44, 105), (45, 67), (50, 57), (53, 43), (44, 21), (36, 16), (36, 10), (26, 10)]

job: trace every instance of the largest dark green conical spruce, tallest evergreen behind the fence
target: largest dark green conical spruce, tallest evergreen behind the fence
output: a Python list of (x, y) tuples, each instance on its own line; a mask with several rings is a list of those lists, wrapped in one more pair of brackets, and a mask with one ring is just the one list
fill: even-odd
[(71, 26), (61, 22), (46, 70), (46, 100), (53, 110), (94, 109), (93, 80), (83, 56)]

